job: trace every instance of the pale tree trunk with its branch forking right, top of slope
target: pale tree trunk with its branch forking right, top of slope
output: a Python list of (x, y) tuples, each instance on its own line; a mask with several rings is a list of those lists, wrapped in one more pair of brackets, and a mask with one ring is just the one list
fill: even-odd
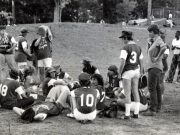
[(54, 22), (61, 22), (62, 10), (71, 0), (54, 0)]

